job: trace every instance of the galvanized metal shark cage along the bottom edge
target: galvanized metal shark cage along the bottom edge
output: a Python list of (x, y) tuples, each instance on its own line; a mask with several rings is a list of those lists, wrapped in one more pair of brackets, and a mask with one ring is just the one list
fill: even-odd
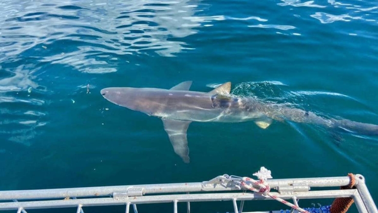
[[(378, 213), (365, 185), (365, 178), (360, 174), (354, 177), (354, 189), (347, 190), (341, 190), (340, 187), (351, 182), (349, 176), (270, 179), (266, 183), (271, 189), (277, 190), (270, 192), (271, 194), (284, 200), (292, 200), (296, 206), (299, 199), (351, 197), (359, 213)], [(137, 205), (140, 204), (172, 203), (173, 212), (177, 213), (177, 203), (185, 202), (187, 213), (190, 213), (191, 202), (224, 201), (233, 205), (235, 213), (242, 213), (246, 201), (269, 199), (271, 198), (264, 194), (246, 191), (234, 181), (225, 178), (225, 175), (220, 175), (209, 181), (196, 183), (0, 191), (0, 211), (27, 213), (29, 209), (74, 207), (76, 213), (84, 213), (83, 207), (124, 205), (126, 213), (130, 212), (131, 207), (137, 213)], [(297, 210), (292, 209), (290, 212)]]

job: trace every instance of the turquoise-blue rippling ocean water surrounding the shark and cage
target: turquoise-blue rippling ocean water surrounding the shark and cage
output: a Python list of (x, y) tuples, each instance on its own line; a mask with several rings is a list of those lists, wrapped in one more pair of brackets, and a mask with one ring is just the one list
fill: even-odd
[[(100, 95), (231, 81), (233, 94), (378, 124), (377, 29), (378, 3), (365, 0), (2, 0), (0, 190), (199, 182), (265, 166), (274, 178), (363, 174), (378, 199), (377, 137), (337, 143), (307, 124), (192, 123), (184, 164), (160, 119)], [(268, 204), (245, 208), (286, 209)], [(172, 211), (155, 206), (139, 209)]]

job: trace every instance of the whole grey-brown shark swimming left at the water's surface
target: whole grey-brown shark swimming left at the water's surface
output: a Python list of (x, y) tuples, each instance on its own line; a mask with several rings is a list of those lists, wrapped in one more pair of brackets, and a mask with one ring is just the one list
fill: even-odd
[(187, 130), (193, 121), (254, 121), (257, 126), (266, 129), (273, 120), (289, 120), (361, 135), (378, 135), (378, 125), (348, 119), (327, 119), (284, 104), (230, 95), (230, 82), (210, 92), (189, 91), (191, 83), (185, 81), (170, 89), (110, 87), (102, 89), (101, 95), (119, 106), (161, 118), (174, 152), (185, 163), (189, 163)]

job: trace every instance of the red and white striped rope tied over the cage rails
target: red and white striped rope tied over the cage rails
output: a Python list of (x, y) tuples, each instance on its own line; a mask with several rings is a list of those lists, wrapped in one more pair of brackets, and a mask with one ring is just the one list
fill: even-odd
[[(260, 190), (258, 190), (256, 188), (253, 188), (252, 186), (247, 185), (246, 181), (249, 181), (249, 182), (252, 182), (255, 185), (258, 185), (260, 187)], [(285, 205), (287, 205), (287, 206), (289, 206), (289, 207), (297, 210), (298, 212), (309, 213), (308, 211), (300, 208), (299, 206), (296, 206), (296, 205), (294, 205), (294, 204), (292, 204), (290, 202), (287, 202), (286, 200), (284, 200), (284, 199), (282, 199), (280, 197), (277, 197), (276, 195), (271, 194), (270, 193), (270, 187), (269, 187), (268, 184), (265, 184), (264, 179), (260, 179), (258, 181), (258, 180), (254, 180), (254, 179), (252, 179), (250, 177), (243, 177), (242, 181), (241, 181), (241, 185), (243, 187), (245, 187), (246, 189), (251, 190), (253, 192), (256, 192), (256, 193), (259, 193), (259, 192), (261, 193), (262, 192), (263, 196), (269, 196), (269, 197), (271, 197), (271, 198), (273, 198), (273, 199), (275, 199), (275, 200), (277, 200), (277, 201), (279, 201), (279, 202), (281, 202), (281, 203), (283, 203), (283, 204), (285, 204)]]

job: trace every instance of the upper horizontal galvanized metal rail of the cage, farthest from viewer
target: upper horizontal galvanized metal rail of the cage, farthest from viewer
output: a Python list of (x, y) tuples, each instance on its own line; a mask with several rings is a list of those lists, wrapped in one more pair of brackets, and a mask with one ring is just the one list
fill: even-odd
[[(349, 184), (349, 177), (321, 177), (321, 178), (294, 178), (294, 179), (270, 179), (267, 183), (271, 188), (279, 185), (308, 185), (310, 187), (335, 187)], [(143, 194), (161, 193), (184, 193), (184, 192), (217, 192), (239, 190), (237, 187), (226, 187), (221, 184), (206, 185), (203, 182), (197, 183), (170, 183), (170, 184), (148, 184), (129, 186), (109, 186), (109, 187), (87, 187), (87, 188), (66, 188), (47, 190), (18, 190), (0, 191), (0, 200), (12, 199), (39, 199), (39, 198), (65, 198), (65, 197), (89, 197), (89, 196), (109, 196), (113, 192), (127, 192), (132, 187), (143, 189)]]

